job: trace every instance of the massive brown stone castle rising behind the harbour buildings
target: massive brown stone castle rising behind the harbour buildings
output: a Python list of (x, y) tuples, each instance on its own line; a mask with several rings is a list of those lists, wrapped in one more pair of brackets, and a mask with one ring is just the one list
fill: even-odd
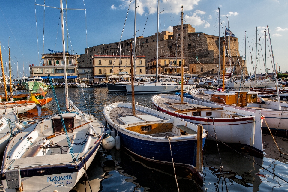
[[(145, 55), (146, 61), (156, 58), (156, 35), (149, 37), (136, 38), (136, 55)], [(173, 32), (159, 32), (159, 57), (177, 57), (181, 58), (181, 25), (173, 26)], [(247, 73), (247, 68), (244, 66), (244, 60), (239, 54), (239, 42), (236, 37), (226, 36), (226, 51), (225, 51), (225, 69), (230, 68), (233, 74)], [(221, 68), (223, 67), (223, 39), (220, 37), (220, 56)], [(131, 39), (123, 40), (120, 43), (120, 49), (117, 55), (130, 55)], [(230, 41), (230, 49), (229, 49)], [(110, 44), (101, 44), (85, 49), (85, 53), (78, 58), (78, 67), (92, 68), (92, 57), (94, 55), (116, 55), (119, 42)], [(227, 50), (228, 48), (228, 50)], [(190, 24), (183, 24), (183, 50), (185, 64), (188, 67), (190, 74), (208, 75), (217, 73), (219, 65), (219, 36), (207, 35), (205, 33), (195, 32)], [(231, 67), (228, 54), (231, 51)], [(198, 57), (198, 61), (196, 59)], [(148, 65), (146, 64), (146, 67)]]

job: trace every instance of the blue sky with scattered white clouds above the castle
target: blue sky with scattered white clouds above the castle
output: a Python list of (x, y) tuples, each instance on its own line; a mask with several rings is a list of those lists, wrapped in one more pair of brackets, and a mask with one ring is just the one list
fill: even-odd
[[(134, 2), (135, 0), (63, 0), (64, 7), (67, 4), (67, 8), (86, 9), (86, 11), (68, 10), (67, 19), (66, 12), (64, 12), (68, 26), (68, 51), (83, 54), (86, 47), (119, 42), (127, 12), (122, 40), (131, 38), (134, 34)], [(36, 4), (44, 5), (44, 0), (36, 0)], [(46, 0), (45, 5), (59, 8), (60, 2)], [(181, 5), (183, 5), (184, 23), (191, 24), (196, 28), (196, 32), (204, 32), (209, 35), (218, 35), (218, 7), (220, 7), (221, 36), (223, 36), (222, 27), (225, 30), (225, 26), (228, 26), (228, 16), (230, 30), (239, 38), (239, 51), (243, 57), (245, 31), (247, 31), (247, 68), (249, 73), (253, 73), (251, 54), (253, 64), (255, 64), (256, 26), (259, 33), (257, 38), (260, 37), (257, 46), (257, 49), (260, 50), (257, 53), (260, 55), (257, 61), (257, 73), (264, 73), (263, 57), (265, 56), (262, 57), (262, 54), (264, 55), (265, 51), (265, 34), (262, 34), (269, 25), (275, 63), (278, 63), (282, 72), (288, 71), (286, 59), (288, 51), (287, 0), (160, 0), (160, 12), (163, 12), (159, 16), (159, 31), (171, 31), (173, 26), (181, 24)], [(137, 6), (137, 30), (139, 30), (137, 36), (155, 35), (157, 32), (157, 0), (153, 0), (153, 2), (152, 0), (137, 0)], [(44, 14), (43, 6), (35, 6), (35, 1), (28, 0), (0, 1), (0, 9), (0, 41), (4, 68), (6, 67), (5, 62), (9, 61), (7, 52), (10, 37), (11, 66), (15, 78), (17, 62), (19, 76), (23, 74), (23, 62), (25, 76), (29, 76), (29, 63), (39, 65), (43, 50), (44, 54), (49, 53), (48, 49), (62, 50), (59, 9), (45, 7)], [(67, 43), (66, 27), (64, 31)], [(259, 49), (259, 42), (262, 49)], [(252, 46), (251, 52), (248, 51)], [(272, 72), (268, 46), (266, 68), (269, 69), (268, 72)]]

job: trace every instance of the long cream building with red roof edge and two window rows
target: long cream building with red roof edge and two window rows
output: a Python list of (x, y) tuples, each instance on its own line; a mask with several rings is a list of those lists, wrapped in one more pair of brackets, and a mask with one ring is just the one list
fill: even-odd
[[(94, 82), (109, 80), (111, 74), (131, 75), (130, 56), (94, 55), (92, 58)], [(146, 74), (146, 56), (137, 56), (136, 73)]]

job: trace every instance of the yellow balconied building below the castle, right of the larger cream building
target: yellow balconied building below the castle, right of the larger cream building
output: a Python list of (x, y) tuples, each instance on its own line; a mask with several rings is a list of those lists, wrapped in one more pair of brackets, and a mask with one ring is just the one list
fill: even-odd
[[(185, 64), (185, 58), (183, 58), (184, 71), (187, 72), (188, 67)], [(147, 74), (156, 74), (156, 58), (147, 61), (146, 66)], [(181, 57), (159, 57), (158, 58), (158, 74), (173, 74), (181, 73)]]

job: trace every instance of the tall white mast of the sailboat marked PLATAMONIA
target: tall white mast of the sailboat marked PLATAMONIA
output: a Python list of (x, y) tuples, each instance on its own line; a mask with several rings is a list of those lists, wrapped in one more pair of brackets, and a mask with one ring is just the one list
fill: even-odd
[(62, 29), (62, 46), (63, 46), (63, 61), (64, 61), (64, 81), (65, 81), (65, 98), (66, 109), (69, 110), (68, 85), (67, 85), (67, 69), (66, 69), (66, 52), (65, 52), (65, 36), (64, 36), (64, 18), (63, 18), (63, 2), (60, 0), (60, 14), (61, 14), (61, 29)]

